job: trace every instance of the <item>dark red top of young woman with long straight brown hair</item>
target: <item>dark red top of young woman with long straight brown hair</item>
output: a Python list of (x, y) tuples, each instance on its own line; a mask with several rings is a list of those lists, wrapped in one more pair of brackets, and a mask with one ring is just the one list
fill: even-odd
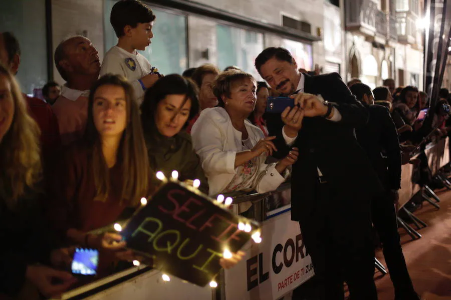
[(122, 170), (119, 163), (109, 169), (110, 191), (105, 201), (96, 198), (92, 150), (83, 140), (71, 143), (56, 159), (48, 174), (48, 213), (54, 227), (66, 237), (69, 228), (84, 232), (107, 226), (127, 206), (121, 201)]

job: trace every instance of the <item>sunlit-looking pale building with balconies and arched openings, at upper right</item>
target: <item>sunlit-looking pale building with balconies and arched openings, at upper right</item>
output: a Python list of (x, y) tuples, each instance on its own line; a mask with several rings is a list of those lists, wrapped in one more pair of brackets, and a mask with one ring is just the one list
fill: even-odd
[(348, 78), (372, 88), (394, 78), (423, 89), (423, 2), (345, 1)]

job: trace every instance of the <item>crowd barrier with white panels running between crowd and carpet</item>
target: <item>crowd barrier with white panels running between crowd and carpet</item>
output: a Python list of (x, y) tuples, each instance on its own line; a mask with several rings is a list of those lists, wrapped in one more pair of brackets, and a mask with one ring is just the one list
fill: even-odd
[[(449, 162), (448, 138), (428, 144), (425, 153), (432, 173), (436, 174)], [(413, 168), (412, 164), (402, 166), (401, 208), (421, 191), (418, 184), (412, 183)], [(199, 287), (174, 276), (166, 282), (160, 271), (141, 265), (69, 290), (62, 299), (276, 300), (281, 296), (289, 299), (291, 291), (313, 275), (299, 224), (291, 221), (290, 182), (265, 194), (228, 195), (234, 198), (235, 204), (252, 202), (246, 213), (262, 222), (263, 241), (245, 245), (247, 256), (234, 268), (221, 271), (217, 288)]]

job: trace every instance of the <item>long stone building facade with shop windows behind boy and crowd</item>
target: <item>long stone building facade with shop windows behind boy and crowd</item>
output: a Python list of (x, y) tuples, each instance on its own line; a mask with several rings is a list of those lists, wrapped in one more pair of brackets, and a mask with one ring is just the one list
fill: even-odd
[[(23, 47), (19, 80), (32, 93), (48, 79), (64, 83), (53, 53), (64, 38), (84, 35), (100, 59), (116, 43), (109, 21), (117, 0), (2, 1), (3, 30)], [(152, 44), (142, 53), (164, 74), (211, 62), (237, 65), (259, 78), (254, 59), (265, 47), (283, 46), (299, 67), (346, 76), (343, 5), (339, 0), (145, 0), (156, 14)], [(343, 0), (341, 0), (343, 2)], [(2, 12), (3, 14), (3, 12)], [(30, 26), (32, 24), (32, 26)], [(26, 26), (26, 27), (25, 27)]]

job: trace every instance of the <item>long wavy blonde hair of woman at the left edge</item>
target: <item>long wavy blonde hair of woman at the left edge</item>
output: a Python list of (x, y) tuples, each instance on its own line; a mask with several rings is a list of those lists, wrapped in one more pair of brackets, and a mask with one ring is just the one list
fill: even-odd
[(13, 122), (0, 142), (0, 198), (14, 209), (17, 200), (33, 190), (42, 176), (40, 130), (28, 113), (19, 84), (2, 64), (0, 76), (10, 82), (14, 102)]

